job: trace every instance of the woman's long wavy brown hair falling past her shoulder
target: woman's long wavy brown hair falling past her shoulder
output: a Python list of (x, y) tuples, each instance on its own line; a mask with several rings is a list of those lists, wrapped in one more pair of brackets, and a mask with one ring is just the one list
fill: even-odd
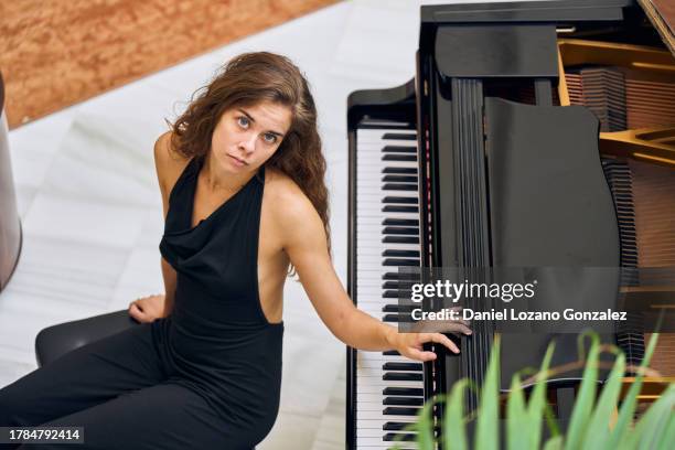
[[(185, 158), (205, 156), (225, 110), (264, 100), (287, 106), (292, 113), (290, 129), (265, 165), (288, 175), (312, 202), (323, 222), (330, 253), (325, 159), (317, 128), (317, 107), (309, 83), (289, 58), (268, 52), (232, 58), (208, 85), (193, 94), (186, 110), (170, 124), (171, 147)], [(292, 266), (289, 272), (294, 274)]]

